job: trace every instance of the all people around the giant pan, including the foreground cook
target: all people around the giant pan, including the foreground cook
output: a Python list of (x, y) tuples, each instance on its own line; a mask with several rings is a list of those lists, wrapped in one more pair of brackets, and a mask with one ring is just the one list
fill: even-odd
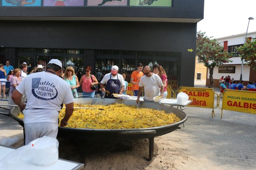
[[(138, 96), (137, 103), (143, 87), (144, 101), (153, 101), (153, 97), (158, 95), (164, 98), (167, 96), (167, 75), (163, 67), (154, 65), (152, 69), (153, 72), (149, 66), (145, 66), (143, 70), (143, 64), (139, 63), (131, 76), (133, 93)], [(105, 92), (105, 98), (115, 98), (114, 93), (126, 94), (128, 87), (126, 73), (118, 74), (118, 66), (112, 66), (111, 72), (104, 75), (100, 82), (96, 76), (103, 75), (92, 75), (90, 66), (86, 67), (85, 75), (78, 81), (74, 68), (63, 67), (57, 59), (50, 60), (45, 70), (41, 65), (34, 67), (30, 73), (27, 70), (27, 63), (21, 63), (20, 69), (14, 69), (9, 61), (6, 61), (6, 66), (0, 64), (2, 89), (5, 90), (5, 83), (10, 82), (8, 104), (17, 104), (24, 113), (25, 144), (43, 136), (56, 138), (59, 111), (65, 104), (65, 116), (60, 126), (68, 125), (79, 86), (82, 86), (83, 96), (91, 98), (94, 98), (98, 84)], [(6, 91), (3, 91), (3, 95), (6, 95)], [(22, 99), (24, 96), (26, 103)]]

